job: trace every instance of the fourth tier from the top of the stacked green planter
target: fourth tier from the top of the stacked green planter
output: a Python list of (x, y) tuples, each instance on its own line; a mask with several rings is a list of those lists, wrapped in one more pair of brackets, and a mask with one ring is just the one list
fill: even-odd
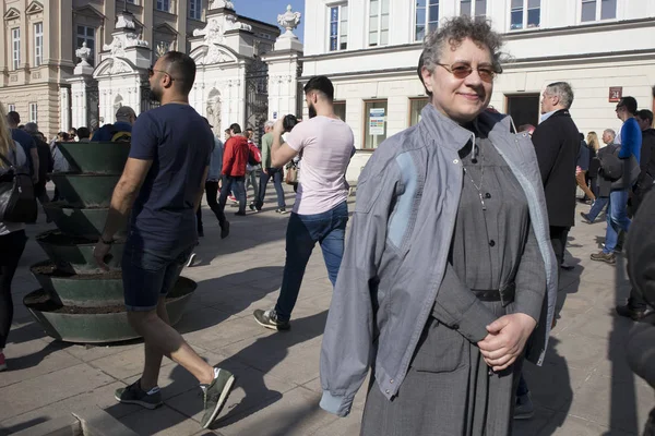
[[(69, 274), (103, 272), (93, 257), (93, 249), (97, 238), (87, 239), (70, 237), (59, 230), (50, 230), (36, 237), (36, 242), (46, 252), (57, 269)], [(109, 256), (105, 259), (111, 269), (120, 268), (124, 242), (117, 241), (111, 245)]]

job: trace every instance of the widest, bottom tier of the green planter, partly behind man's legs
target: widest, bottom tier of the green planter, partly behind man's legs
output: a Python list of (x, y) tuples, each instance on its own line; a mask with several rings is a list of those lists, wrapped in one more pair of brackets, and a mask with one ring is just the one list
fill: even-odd
[[(181, 319), (195, 287), (193, 280), (180, 277), (168, 294), (166, 308), (171, 325)], [(62, 306), (40, 289), (25, 295), (23, 303), (48, 336), (64, 342), (107, 343), (139, 337), (122, 305), (102, 310)]]

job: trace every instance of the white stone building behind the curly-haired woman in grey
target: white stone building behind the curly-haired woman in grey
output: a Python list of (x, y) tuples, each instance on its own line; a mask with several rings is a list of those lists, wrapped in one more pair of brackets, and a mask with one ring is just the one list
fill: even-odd
[(306, 0), (300, 82), (333, 80), (361, 150), (350, 180), (367, 150), (418, 122), (427, 102), (416, 74), (422, 37), (464, 13), (486, 15), (505, 36), (512, 62), (491, 105), (516, 125), (538, 122), (539, 95), (556, 81), (572, 84), (571, 113), (583, 133), (619, 128), (610, 88), (611, 97), (622, 92), (653, 109), (655, 0)]

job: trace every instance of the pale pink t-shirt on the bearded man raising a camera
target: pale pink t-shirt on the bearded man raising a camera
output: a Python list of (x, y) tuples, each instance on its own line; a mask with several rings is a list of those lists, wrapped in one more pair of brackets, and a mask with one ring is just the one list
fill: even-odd
[(298, 123), (286, 135), (286, 143), (302, 157), (294, 205), (296, 214), (322, 214), (348, 198), (346, 169), (355, 152), (355, 138), (348, 124), (314, 117)]

